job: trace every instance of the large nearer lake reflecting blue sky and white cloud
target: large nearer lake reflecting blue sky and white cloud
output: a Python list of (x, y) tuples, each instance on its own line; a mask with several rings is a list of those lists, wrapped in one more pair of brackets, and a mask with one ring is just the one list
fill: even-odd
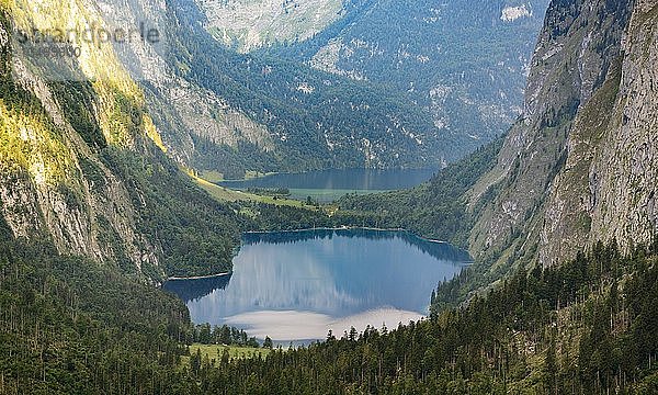
[(354, 326), (397, 327), (428, 314), (439, 282), (466, 252), (404, 232), (248, 234), (230, 276), (170, 281), (194, 323), (227, 324), (275, 341), (324, 339)]

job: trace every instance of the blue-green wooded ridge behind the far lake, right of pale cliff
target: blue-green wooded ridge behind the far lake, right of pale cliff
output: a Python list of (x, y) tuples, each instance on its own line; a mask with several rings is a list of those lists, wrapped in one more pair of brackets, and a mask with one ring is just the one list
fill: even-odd
[[(245, 144), (229, 157), (214, 148), (201, 169), (302, 171), (321, 168), (440, 167), (452, 137), (406, 93), (315, 70), (299, 63), (241, 55), (203, 29), (191, 0), (172, 0), (179, 25), (171, 56), (185, 79), (265, 125), (271, 147)], [(212, 142), (200, 140), (212, 149)], [(235, 163), (235, 169), (227, 169)]]

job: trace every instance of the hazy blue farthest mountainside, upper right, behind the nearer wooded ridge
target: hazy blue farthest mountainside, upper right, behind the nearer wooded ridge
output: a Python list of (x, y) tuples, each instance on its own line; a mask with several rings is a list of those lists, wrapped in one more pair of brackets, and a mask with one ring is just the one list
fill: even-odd
[(313, 38), (265, 52), (408, 92), (442, 134), (451, 159), (502, 134), (522, 112), (547, 1), (351, 1)]

